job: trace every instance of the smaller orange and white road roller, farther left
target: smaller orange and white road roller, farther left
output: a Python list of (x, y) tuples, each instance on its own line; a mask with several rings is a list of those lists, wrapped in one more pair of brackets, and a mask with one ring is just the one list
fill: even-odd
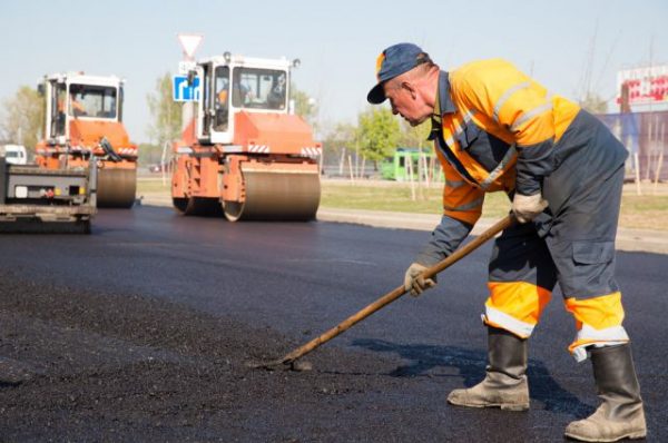
[(36, 163), (46, 169), (98, 168), (99, 207), (129, 208), (137, 189), (137, 145), (122, 124), (125, 81), (85, 72), (47, 75), (38, 86), (45, 97), (45, 138)]

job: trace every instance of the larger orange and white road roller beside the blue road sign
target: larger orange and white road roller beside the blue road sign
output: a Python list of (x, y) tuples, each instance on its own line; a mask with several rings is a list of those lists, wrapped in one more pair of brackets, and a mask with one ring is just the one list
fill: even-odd
[(230, 222), (315, 218), (322, 146), (292, 109), (296, 66), (229, 52), (194, 63), (197, 101), (171, 160), (177, 211)]

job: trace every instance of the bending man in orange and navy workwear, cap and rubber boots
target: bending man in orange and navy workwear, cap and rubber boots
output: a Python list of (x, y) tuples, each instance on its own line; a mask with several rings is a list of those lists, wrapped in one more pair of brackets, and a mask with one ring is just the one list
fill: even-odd
[(445, 175), (442, 220), (406, 270), (406, 291), (435, 285), (421, 274), (469, 235), (485, 193), (507, 193), (519, 220), (495, 239), (489, 263), (485, 378), (453, 391), (449, 403), (529, 408), (527, 339), (559, 283), (577, 326), (569, 351), (577, 361), (590, 356), (602, 402), (566, 435), (645, 436), (613, 275), (626, 148), (593, 116), (501, 59), (446, 72), (415, 45), (400, 43), (379, 56), (376, 80), (371, 104), (389, 99), (412, 126), (431, 120)]

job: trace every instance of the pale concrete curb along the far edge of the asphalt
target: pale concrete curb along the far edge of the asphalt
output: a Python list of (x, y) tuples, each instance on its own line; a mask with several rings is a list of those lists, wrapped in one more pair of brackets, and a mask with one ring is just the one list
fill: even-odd
[[(171, 198), (163, 196), (140, 197), (141, 205), (171, 206)], [(412, 214), (384, 210), (337, 209), (321, 207), (316, 215), (320, 222), (352, 223), (391, 229), (414, 229), (431, 232), (440, 223), (435, 214)], [(490, 227), (494, 219), (481, 218), (471, 234), (479, 235)], [(616, 248), (625, 252), (668, 254), (668, 232), (619, 228)]]

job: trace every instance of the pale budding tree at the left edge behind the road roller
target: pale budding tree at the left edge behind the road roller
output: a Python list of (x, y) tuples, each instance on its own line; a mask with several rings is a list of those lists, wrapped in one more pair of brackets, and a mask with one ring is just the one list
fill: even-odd
[(33, 151), (45, 126), (45, 99), (33, 88), (22, 86), (2, 105), (2, 138)]

